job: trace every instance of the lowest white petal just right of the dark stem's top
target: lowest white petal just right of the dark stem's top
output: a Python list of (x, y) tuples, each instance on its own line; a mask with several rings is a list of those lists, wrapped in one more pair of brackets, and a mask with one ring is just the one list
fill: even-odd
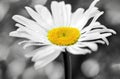
[(87, 53), (91, 53), (91, 51), (89, 49), (82, 49), (82, 48), (79, 48), (77, 46), (69, 46), (67, 47), (67, 51), (72, 53), (72, 54), (75, 54), (75, 55), (78, 55), (78, 54), (87, 54)]

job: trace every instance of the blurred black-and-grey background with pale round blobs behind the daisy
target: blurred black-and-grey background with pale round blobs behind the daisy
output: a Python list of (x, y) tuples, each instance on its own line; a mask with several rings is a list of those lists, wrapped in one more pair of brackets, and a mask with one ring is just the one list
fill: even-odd
[[(64, 79), (62, 56), (46, 67), (36, 71), (34, 63), (24, 57), (24, 50), (17, 43), (18, 38), (9, 37), (15, 30), (13, 15), (20, 14), (29, 18), (25, 6), (36, 4), (50, 8), (52, 0), (0, 0), (0, 79)], [(57, 0), (61, 1), (61, 0)], [(64, 0), (72, 5), (72, 10), (87, 9), (93, 0)], [(109, 37), (110, 45), (99, 45), (92, 54), (72, 56), (73, 79), (120, 79), (120, 0), (101, 0), (96, 6), (104, 11), (98, 20), (101, 24), (117, 31)]]

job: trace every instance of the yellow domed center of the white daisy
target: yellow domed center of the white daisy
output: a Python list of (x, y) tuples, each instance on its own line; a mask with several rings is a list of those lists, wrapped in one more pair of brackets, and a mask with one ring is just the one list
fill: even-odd
[(55, 45), (69, 46), (77, 42), (80, 31), (73, 27), (53, 28), (48, 32), (48, 40)]

